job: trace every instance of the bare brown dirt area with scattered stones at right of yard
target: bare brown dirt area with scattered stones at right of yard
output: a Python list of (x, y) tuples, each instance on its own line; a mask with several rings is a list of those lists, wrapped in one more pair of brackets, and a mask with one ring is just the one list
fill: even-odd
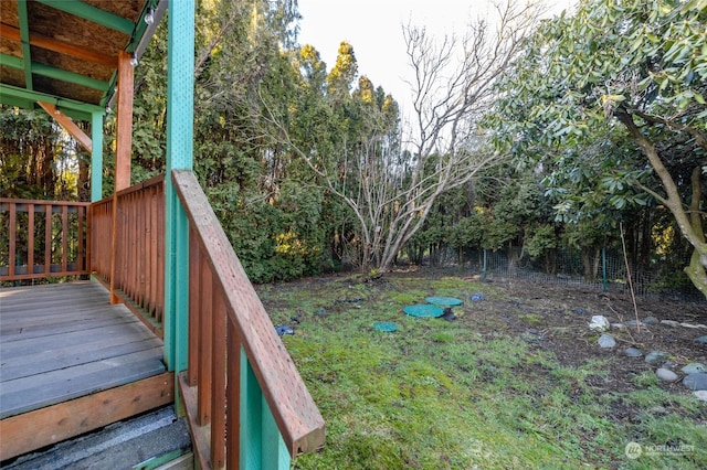
[[(636, 348), (644, 354), (663, 351), (676, 364), (676, 370), (690, 362), (707, 363), (707, 345), (694, 342), (707, 334), (707, 327), (659, 323), (661, 320), (674, 320), (693, 327), (707, 325), (707, 302), (637, 297), (634, 307), (630, 295), (604, 293), (582, 287), (503, 279), (496, 280), (494, 286), (500, 289), (500, 295), (475, 302), (465, 321), (486, 323), (527, 338), (539, 348), (553, 351), (564, 365), (578, 365), (592, 357), (621, 356), (623, 359), (615, 362), (611, 372), (616, 381), (609, 382), (618, 388), (623, 388), (621, 384), (629, 374), (659, 366), (626, 357), (626, 348)], [(641, 322), (653, 317), (657, 323), (612, 328), (609, 333), (616, 340), (616, 346), (601, 349), (597, 343), (600, 333), (589, 329), (592, 316), (604, 316), (612, 324), (625, 324), (636, 320), (636, 310)], [(679, 384), (673, 386), (682, 387)]]

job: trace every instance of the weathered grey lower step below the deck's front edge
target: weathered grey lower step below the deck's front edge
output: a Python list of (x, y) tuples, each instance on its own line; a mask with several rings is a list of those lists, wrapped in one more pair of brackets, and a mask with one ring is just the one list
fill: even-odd
[[(191, 451), (184, 419), (178, 419), (172, 406), (115, 423), (40, 452), (24, 455), (3, 469), (157, 469)], [(183, 459), (182, 459), (183, 460)], [(188, 460), (188, 459), (187, 459)], [(6, 466), (7, 463), (7, 466)], [(179, 468), (191, 468), (187, 461)]]

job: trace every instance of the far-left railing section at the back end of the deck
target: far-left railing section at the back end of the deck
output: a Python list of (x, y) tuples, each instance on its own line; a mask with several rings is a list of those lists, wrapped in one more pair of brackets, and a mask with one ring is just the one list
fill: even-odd
[(0, 197), (0, 281), (88, 274), (88, 205)]

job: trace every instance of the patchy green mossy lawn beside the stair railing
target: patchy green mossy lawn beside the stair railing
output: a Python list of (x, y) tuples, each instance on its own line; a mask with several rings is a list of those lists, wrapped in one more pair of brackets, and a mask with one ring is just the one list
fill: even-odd
[[(299, 316), (283, 341), (326, 420), (325, 448), (294, 468), (707, 468), (704, 404), (646, 373), (606, 392), (614, 357), (562, 365), (494, 318), (472, 321), (473, 292), (503, 296), (454, 277), (260, 287), (274, 323)], [(402, 313), (428, 296), (464, 300), (458, 320)], [(545, 321), (524, 317), (530, 328)], [(398, 331), (376, 331), (377, 321)], [(629, 442), (644, 446), (641, 457), (626, 457)]]

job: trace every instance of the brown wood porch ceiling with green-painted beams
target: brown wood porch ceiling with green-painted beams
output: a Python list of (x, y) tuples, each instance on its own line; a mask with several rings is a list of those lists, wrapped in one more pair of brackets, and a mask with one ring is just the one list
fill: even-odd
[(45, 102), (89, 119), (114, 94), (118, 53), (141, 54), (166, 3), (0, 1), (0, 103), (34, 108)]

